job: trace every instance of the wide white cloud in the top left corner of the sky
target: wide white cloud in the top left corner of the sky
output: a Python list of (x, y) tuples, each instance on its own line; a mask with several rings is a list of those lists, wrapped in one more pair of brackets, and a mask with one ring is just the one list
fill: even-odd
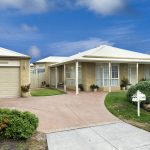
[(16, 10), (23, 13), (40, 13), (48, 9), (48, 0), (0, 0), (1, 10)]

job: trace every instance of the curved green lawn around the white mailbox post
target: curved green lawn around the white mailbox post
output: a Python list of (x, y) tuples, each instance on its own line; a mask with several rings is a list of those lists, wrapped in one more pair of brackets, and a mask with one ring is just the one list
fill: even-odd
[(137, 107), (127, 100), (126, 92), (111, 92), (106, 96), (107, 109), (121, 120), (150, 131), (150, 112), (141, 108), (137, 116)]

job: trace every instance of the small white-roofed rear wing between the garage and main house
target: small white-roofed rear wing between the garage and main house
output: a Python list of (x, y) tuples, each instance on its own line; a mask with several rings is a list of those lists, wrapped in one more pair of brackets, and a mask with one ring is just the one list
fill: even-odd
[(60, 63), (67, 57), (50, 56), (30, 65), (31, 88), (41, 88), (42, 82), (49, 85), (49, 65)]

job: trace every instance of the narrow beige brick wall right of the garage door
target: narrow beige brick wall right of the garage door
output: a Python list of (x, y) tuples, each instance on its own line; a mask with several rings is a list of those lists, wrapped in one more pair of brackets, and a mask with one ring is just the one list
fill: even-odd
[(27, 85), (30, 83), (30, 62), (29, 59), (20, 60), (20, 84)]

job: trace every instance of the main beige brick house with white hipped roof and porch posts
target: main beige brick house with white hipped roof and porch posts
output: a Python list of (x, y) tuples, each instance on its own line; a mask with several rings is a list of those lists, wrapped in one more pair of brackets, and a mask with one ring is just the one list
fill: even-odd
[(142, 78), (150, 79), (150, 55), (101, 45), (70, 56), (50, 65), (50, 85), (76, 90), (82, 84), (85, 91), (96, 84), (102, 91), (120, 90), (120, 83), (127, 78), (136, 84)]

